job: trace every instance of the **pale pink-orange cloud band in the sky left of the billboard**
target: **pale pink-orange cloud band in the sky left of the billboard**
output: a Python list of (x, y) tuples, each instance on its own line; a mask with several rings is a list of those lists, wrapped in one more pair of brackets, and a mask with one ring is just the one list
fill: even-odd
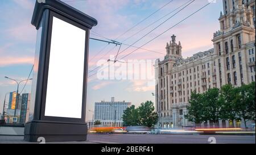
[(0, 67), (16, 65), (16, 64), (34, 64), (34, 57), (0, 57)]

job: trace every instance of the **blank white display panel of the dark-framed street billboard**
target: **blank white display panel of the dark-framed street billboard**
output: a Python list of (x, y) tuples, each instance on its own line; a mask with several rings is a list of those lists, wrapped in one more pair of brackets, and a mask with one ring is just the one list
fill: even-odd
[(53, 16), (45, 116), (81, 118), (85, 33)]

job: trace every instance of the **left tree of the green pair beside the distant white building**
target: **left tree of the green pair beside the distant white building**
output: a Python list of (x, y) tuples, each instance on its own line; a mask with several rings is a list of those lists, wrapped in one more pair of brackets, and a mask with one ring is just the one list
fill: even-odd
[(131, 107), (127, 107), (126, 110), (123, 111), (122, 119), (124, 126), (140, 125), (138, 109), (135, 108), (134, 105), (132, 105)]

